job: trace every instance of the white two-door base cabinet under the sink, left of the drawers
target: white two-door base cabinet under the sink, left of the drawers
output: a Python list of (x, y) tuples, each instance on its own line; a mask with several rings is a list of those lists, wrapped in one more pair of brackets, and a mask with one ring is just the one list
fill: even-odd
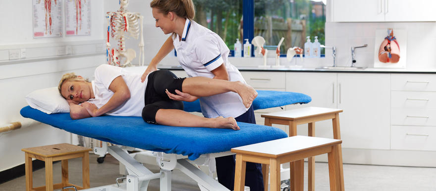
[[(389, 149), (390, 74), (287, 72), (286, 91), (312, 102), (300, 107), (343, 109), (339, 122), (343, 148)], [(307, 132), (307, 125), (297, 132)], [(316, 136), (332, 137), (331, 121), (317, 122)]]

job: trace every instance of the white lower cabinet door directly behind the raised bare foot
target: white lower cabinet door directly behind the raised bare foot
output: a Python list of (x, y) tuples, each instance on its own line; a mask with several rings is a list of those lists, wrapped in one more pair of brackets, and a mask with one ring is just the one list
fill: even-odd
[[(286, 106), (286, 110), (302, 107), (336, 108), (336, 73), (286, 72), (286, 91), (304, 93), (312, 97), (308, 104)], [(342, 115), (342, 114), (340, 114)], [(307, 135), (307, 124), (297, 127), (297, 134)], [(315, 123), (315, 136), (333, 138), (331, 120)]]

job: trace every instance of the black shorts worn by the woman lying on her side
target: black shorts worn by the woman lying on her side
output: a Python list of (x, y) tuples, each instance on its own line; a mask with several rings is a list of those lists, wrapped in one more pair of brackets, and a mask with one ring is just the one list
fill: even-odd
[(166, 69), (150, 73), (145, 88), (145, 107), (142, 109), (142, 119), (145, 122), (156, 124), (156, 113), (159, 109), (183, 110), (183, 102), (169, 99), (165, 89), (173, 94), (175, 94), (175, 90), (183, 91), (184, 80), (185, 78), (178, 78)]

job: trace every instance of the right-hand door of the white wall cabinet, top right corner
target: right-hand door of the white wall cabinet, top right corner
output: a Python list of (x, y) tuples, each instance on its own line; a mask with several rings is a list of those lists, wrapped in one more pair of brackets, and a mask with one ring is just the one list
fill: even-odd
[(435, 6), (435, 0), (385, 0), (384, 20), (436, 21)]

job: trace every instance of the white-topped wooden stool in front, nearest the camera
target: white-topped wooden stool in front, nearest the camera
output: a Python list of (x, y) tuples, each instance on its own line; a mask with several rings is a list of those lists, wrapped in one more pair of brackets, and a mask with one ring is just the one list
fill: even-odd
[[(271, 167), (270, 190), (279, 191), (280, 164), (301, 161), (304, 158), (324, 153), (328, 155), (330, 191), (339, 191), (340, 188), (343, 188), (343, 182), (340, 182), (340, 168), (338, 166), (341, 143), (342, 140), (337, 139), (292, 136), (232, 148), (231, 152), (236, 153), (235, 191), (242, 191), (244, 189), (246, 162), (269, 165)], [(297, 189), (298, 191), (303, 191), (303, 187)]]

